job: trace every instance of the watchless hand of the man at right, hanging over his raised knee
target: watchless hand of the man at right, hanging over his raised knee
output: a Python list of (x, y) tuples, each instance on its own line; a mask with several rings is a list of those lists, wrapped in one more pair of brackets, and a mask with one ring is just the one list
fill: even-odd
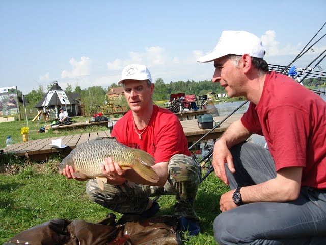
[(219, 177), (226, 185), (229, 185), (229, 181), (225, 171), (225, 163), (228, 164), (228, 168), (231, 173), (234, 173), (235, 169), (231, 152), (229, 151), (225, 141), (218, 140), (214, 144), (212, 164), (214, 167), (215, 175)]

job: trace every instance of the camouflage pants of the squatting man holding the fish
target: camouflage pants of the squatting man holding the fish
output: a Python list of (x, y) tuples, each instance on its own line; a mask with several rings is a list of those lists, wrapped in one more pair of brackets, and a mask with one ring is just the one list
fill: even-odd
[(163, 187), (125, 181), (122, 185), (104, 183), (102, 191), (96, 179), (91, 179), (86, 184), (86, 193), (95, 203), (118, 213), (142, 212), (148, 205), (148, 197), (175, 195), (178, 201), (175, 215), (198, 219), (193, 208), (201, 173), (198, 161), (176, 154), (168, 168), (168, 179)]

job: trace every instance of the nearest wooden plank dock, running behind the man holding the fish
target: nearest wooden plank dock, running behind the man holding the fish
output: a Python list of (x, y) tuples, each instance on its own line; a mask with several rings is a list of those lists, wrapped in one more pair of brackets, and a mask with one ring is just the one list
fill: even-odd
[[(225, 120), (220, 127), (214, 129), (211, 133), (209, 133), (204, 140), (206, 139), (216, 139), (219, 138), (223, 132), (230, 126), (233, 121), (240, 119), (242, 114), (233, 114), (227, 120)], [(214, 121), (222, 121), (225, 117), (218, 116), (213, 117)], [(110, 121), (109, 121), (110, 122)], [(107, 121), (106, 121), (107, 123)], [(194, 142), (200, 139), (204, 134), (209, 132), (211, 129), (200, 129), (198, 127), (197, 120), (184, 120), (180, 121), (184, 134), (188, 140), (188, 142)], [(77, 145), (82, 144), (88, 140), (95, 139), (96, 137), (110, 137), (110, 130), (98, 131), (92, 133), (83, 133), (83, 134), (74, 134), (67, 136), (58, 136), (53, 138), (45, 138), (45, 139), (36, 139), (29, 140), (28, 142), (20, 142), (13, 145), (8, 146), (8, 148), (3, 148), (4, 153), (11, 152), (16, 156), (20, 157), (28, 157), (31, 160), (35, 161), (46, 161), (50, 156), (58, 156), (61, 157), (67, 156)], [(66, 148), (55, 148), (50, 146), (52, 139), (62, 139), (62, 144), (67, 145)]]

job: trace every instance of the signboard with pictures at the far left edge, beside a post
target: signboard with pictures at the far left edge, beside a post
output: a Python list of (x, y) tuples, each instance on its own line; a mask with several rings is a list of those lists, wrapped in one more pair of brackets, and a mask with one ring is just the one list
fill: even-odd
[(0, 88), (0, 116), (20, 115), (17, 86)]

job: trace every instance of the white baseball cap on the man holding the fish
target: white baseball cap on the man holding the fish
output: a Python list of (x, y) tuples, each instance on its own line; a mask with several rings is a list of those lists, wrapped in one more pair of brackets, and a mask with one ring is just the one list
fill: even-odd
[(132, 64), (126, 66), (122, 71), (121, 80), (118, 84), (123, 83), (125, 79), (133, 79), (133, 80), (149, 80), (152, 82), (152, 77), (145, 65), (137, 65)]

